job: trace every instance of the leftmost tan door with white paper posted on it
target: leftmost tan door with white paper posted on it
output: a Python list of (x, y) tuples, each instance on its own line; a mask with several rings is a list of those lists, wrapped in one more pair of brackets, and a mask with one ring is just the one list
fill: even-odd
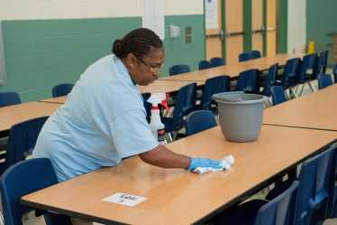
[(223, 57), (222, 0), (205, 0), (206, 59)]

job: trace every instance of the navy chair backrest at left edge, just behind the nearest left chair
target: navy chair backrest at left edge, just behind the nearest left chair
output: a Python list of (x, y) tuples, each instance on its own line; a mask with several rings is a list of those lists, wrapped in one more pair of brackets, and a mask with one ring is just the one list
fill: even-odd
[(10, 128), (8, 149), (6, 151), (5, 163), (1, 164), (0, 167), (1, 173), (12, 164), (23, 161), (27, 155), (32, 153), (32, 149), (47, 118), (33, 118)]

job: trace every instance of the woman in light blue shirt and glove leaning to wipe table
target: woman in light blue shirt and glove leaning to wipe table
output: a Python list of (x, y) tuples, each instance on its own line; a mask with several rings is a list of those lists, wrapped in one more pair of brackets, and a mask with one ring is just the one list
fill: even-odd
[(220, 168), (217, 160), (178, 155), (159, 145), (146, 120), (138, 85), (158, 79), (164, 63), (159, 37), (140, 28), (116, 40), (114, 54), (90, 65), (42, 127), (34, 157), (48, 157), (59, 181), (138, 155), (164, 168)]

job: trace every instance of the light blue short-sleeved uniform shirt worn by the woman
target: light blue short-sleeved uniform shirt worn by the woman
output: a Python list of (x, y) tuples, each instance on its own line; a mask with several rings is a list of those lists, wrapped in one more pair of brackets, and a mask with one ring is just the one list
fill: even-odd
[(123, 62), (109, 55), (81, 75), (42, 127), (32, 155), (50, 158), (65, 181), (156, 146), (139, 89)]

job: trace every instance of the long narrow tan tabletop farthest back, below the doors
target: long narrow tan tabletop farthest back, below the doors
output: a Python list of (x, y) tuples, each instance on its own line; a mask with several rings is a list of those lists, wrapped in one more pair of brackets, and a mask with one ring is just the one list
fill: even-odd
[(214, 67), (206, 70), (196, 70), (187, 73), (178, 74), (175, 76), (168, 76), (159, 78), (159, 80), (198, 80), (204, 81), (220, 75), (227, 75), (231, 78), (237, 77), (241, 71), (258, 69), (268, 70), (269, 67), (278, 62), (279, 66), (285, 65), (287, 60), (292, 58), (302, 58), (303, 54), (277, 54), (269, 57), (262, 57), (250, 61), (242, 61), (240, 63)]

